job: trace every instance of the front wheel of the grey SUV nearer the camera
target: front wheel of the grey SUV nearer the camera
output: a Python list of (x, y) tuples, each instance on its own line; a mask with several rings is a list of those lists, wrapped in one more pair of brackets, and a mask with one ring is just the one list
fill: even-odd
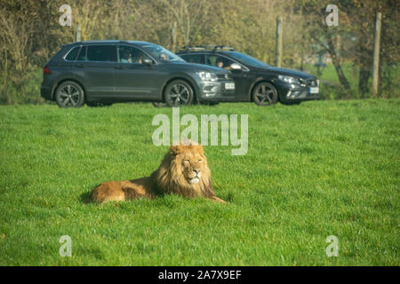
[(167, 106), (188, 106), (192, 103), (193, 97), (192, 87), (182, 80), (172, 81), (164, 91)]

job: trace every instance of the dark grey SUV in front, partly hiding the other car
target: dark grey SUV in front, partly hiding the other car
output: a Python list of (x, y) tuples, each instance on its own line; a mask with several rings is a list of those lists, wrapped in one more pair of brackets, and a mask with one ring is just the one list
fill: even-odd
[(224, 100), (235, 92), (230, 71), (188, 64), (154, 43), (89, 41), (62, 46), (44, 66), (41, 95), (61, 107), (124, 101)]

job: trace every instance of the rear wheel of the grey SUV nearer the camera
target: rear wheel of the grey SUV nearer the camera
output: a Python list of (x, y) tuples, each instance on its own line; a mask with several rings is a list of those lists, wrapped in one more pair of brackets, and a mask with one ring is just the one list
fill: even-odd
[(84, 90), (75, 82), (61, 83), (55, 93), (55, 101), (60, 107), (80, 107), (84, 105)]

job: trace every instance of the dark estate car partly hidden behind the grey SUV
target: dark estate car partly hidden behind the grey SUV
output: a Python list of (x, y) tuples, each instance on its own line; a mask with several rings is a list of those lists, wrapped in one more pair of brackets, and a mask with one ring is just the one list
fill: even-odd
[(232, 71), (236, 82), (234, 101), (253, 101), (259, 106), (285, 105), (319, 99), (319, 81), (298, 70), (269, 66), (250, 55), (222, 45), (185, 46), (177, 54), (188, 62)]

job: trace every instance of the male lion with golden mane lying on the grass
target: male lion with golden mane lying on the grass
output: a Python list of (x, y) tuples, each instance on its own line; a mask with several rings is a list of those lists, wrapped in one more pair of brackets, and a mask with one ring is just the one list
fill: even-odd
[(205, 197), (225, 203), (213, 191), (211, 171), (207, 166), (203, 146), (191, 141), (171, 146), (161, 165), (150, 177), (102, 183), (92, 190), (88, 201), (153, 199), (169, 193)]

